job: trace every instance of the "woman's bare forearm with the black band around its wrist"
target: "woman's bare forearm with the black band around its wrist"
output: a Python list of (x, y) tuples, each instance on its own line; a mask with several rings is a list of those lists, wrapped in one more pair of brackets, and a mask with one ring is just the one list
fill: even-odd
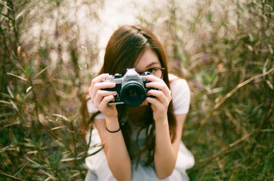
[[(117, 119), (105, 119), (105, 126), (109, 130), (118, 130), (119, 122)], [(116, 180), (131, 180), (132, 163), (127, 152), (125, 141), (121, 130), (117, 133), (106, 132), (105, 154), (108, 165)]]

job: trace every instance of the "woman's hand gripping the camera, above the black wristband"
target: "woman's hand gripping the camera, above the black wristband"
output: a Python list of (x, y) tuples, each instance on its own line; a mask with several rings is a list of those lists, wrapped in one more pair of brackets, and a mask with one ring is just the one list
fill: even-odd
[(95, 79), (92, 79), (89, 94), (93, 105), (95, 105), (105, 117), (117, 117), (118, 113), (115, 105), (108, 105), (108, 102), (115, 100), (114, 95), (116, 95), (116, 92), (102, 90), (115, 87), (115, 83), (103, 82), (108, 76), (109, 74), (100, 74), (95, 77)]

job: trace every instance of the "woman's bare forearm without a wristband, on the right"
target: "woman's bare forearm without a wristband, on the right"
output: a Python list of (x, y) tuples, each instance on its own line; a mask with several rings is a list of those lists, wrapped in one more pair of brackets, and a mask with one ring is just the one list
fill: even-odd
[(169, 135), (169, 123), (155, 122), (155, 153), (154, 164), (158, 178), (166, 178), (171, 175), (175, 167), (177, 156), (173, 150)]

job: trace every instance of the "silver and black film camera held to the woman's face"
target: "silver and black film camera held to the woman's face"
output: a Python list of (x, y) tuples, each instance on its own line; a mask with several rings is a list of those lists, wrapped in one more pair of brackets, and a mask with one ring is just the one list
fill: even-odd
[(116, 84), (113, 88), (107, 88), (107, 91), (116, 91), (117, 94), (114, 96), (115, 100), (109, 102), (109, 105), (125, 104), (129, 107), (137, 107), (147, 98), (147, 92), (150, 87), (146, 87), (147, 76), (151, 72), (144, 72), (143, 75), (138, 74), (134, 68), (127, 69), (124, 76), (121, 74), (114, 74), (108, 76), (105, 81), (114, 82)]

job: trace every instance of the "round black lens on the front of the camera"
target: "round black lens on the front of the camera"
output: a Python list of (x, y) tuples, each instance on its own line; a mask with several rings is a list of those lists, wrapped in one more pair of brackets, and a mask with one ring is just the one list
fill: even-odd
[(145, 87), (137, 81), (129, 81), (121, 89), (121, 99), (130, 107), (137, 107), (145, 98)]

